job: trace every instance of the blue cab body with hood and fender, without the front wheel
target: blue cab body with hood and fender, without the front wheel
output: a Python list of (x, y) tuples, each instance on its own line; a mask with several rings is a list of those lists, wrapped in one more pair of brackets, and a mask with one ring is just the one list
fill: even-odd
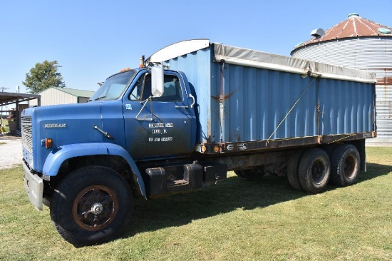
[[(160, 83), (150, 68), (128, 69), (110, 76), (88, 103), (26, 109), (22, 141), (29, 172), (55, 179), (85, 164), (84, 157), (116, 155), (128, 161), (146, 196), (135, 163), (191, 155), (197, 130), (195, 98), (185, 74), (162, 67), (157, 73)], [(41, 209), (39, 201), (33, 199)]]

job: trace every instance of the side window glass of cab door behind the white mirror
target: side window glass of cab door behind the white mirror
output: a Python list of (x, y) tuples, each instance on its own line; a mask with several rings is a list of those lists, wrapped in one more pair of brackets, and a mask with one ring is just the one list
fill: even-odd
[[(153, 97), (153, 101), (182, 101), (181, 85), (177, 76), (165, 75), (163, 82), (163, 95)], [(148, 73), (139, 78), (129, 98), (131, 101), (145, 101), (150, 96), (152, 96), (151, 74)]]

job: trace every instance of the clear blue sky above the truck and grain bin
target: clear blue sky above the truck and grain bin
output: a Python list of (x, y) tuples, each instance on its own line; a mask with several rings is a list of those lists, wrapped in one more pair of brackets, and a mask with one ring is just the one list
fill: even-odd
[[(26, 93), (26, 73), (58, 61), (66, 88), (98, 82), (189, 39), (289, 56), (313, 29), (351, 13), (392, 26), (392, 0), (0, 0), (0, 91)], [(392, 62), (392, 61), (391, 61)]]

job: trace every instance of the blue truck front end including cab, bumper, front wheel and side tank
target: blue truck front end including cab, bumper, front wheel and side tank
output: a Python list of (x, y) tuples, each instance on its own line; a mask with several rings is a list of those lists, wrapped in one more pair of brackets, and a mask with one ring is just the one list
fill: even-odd
[[(132, 212), (133, 194), (154, 198), (202, 186), (201, 165), (187, 159), (194, 152), (197, 131), (190, 85), (180, 71), (164, 71), (162, 66), (153, 70), (128, 69), (110, 76), (88, 103), (28, 108), (22, 113), (26, 192), (38, 210), (51, 205), (53, 222), (59, 224), (55, 227), (74, 244), (98, 229), (94, 227), (106, 227), (119, 215), (117, 208), (130, 215), (125, 213)], [(108, 179), (116, 180), (116, 189), (93, 185), (107, 184)], [(65, 188), (58, 193), (58, 187)], [(86, 198), (97, 193), (100, 199), (85, 209)], [(63, 208), (57, 207), (71, 204), (66, 198), (74, 200), (71, 220), (63, 221), (58, 218)], [(115, 225), (128, 219), (120, 218)], [(62, 222), (76, 222), (83, 235), (72, 240), (74, 235), (61, 228)]]

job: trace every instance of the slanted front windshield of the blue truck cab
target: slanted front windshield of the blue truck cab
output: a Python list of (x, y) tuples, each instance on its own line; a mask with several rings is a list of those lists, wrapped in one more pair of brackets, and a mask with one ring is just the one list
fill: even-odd
[(134, 75), (135, 71), (125, 71), (110, 76), (88, 101), (108, 101), (120, 98)]

